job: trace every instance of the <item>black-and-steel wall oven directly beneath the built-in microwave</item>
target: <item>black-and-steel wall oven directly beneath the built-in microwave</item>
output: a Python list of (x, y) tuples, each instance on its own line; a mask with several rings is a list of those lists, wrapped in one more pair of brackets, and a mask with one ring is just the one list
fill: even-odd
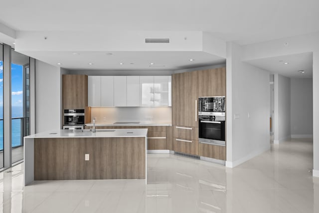
[[(219, 118), (216, 120), (216, 117)], [(214, 115), (199, 116), (199, 143), (225, 146), (225, 117)]]

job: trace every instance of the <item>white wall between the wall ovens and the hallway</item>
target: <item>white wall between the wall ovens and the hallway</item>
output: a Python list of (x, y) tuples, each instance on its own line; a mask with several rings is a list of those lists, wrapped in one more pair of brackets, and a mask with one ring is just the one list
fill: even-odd
[(270, 149), (270, 73), (242, 62), (241, 56), (239, 45), (227, 44), (227, 167)]

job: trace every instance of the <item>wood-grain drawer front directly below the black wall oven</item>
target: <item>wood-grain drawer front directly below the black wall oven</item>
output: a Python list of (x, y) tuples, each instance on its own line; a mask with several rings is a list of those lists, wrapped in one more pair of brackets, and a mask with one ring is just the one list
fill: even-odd
[(199, 143), (199, 155), (225, 161), (226, 147)]

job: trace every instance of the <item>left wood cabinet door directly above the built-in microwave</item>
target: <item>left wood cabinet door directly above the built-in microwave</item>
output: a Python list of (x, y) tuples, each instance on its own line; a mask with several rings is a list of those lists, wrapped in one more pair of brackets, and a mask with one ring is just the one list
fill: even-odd
[(211, 96), (211, 69), (198, 71), (198, 97)]

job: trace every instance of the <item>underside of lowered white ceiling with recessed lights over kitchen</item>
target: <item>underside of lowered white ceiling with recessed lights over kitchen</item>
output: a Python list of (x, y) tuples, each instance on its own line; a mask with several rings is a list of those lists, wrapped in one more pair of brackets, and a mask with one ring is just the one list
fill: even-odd
[[(66, 69), (175, 70), (226, 63), (226, 59), (202, 51), (138, 52), (35, 52), (43, 61)], [(111, 53), (112, 55), (108, 55)], [(195, 59), (189, 61), (189, 59)], [(62, 63), (58, 65), (57, 63)], [(93, 63), (89, 65), (88, 63)], [(120, 63), (123, 63), (121, 65)], [(133, 64), (132, 64), (133, 63)], [(154, 63), (151, 65), (151, 63)]]

